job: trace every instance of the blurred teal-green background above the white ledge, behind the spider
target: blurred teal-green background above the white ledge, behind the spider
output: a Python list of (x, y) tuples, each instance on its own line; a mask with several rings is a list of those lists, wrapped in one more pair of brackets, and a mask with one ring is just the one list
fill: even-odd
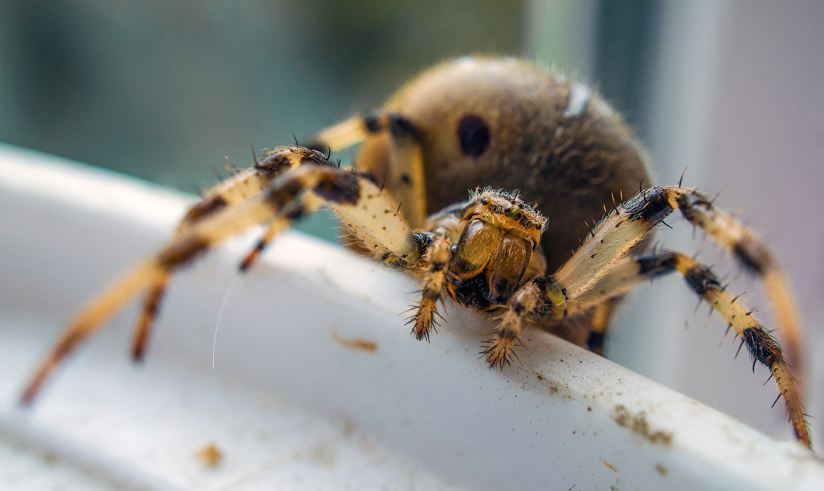
[[(0, 2), (0, 141), (192, 192), (224, 156), (249, 165), (250, 146), (381, 105), (445, 58), (531, 54), (596, 79), (574, 30), (601, 2), (540, 3)], [(597, 14), (601, 88), (630, 115), (654, 7)], [(302, 228), (334, 240), (333, 225)]]

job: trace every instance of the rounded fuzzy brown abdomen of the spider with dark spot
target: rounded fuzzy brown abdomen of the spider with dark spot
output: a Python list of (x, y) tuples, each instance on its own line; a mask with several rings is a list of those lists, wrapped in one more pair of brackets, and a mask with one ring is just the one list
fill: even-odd
[[(542, 239), (547, 267), (558, 268), (586, 236), (585, 220), (620, 194), (652, 184), (642, 147), (595, 91), (513, 58), (466, 57), (439, 64), (386, 104), (418, 133), (425, 214), (463, 199), (468, 189), (520, 190), (550, 217)], [(393, 177), (392, 138), (367, 138), (358, 169), (371, 172), (415, 222), (405, 187)], [(404, 178), (404, 179), (401, 179)], [(425, 215), (424, 217), (425, 218)]]

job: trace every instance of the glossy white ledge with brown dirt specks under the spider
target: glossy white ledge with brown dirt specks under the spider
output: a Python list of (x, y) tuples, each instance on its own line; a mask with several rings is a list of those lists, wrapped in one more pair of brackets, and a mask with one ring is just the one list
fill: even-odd
[[(77, 306), (160, 245), (189, 201), (49, 160), (0, 153), (0, 456), (15, 456), (0, 460), (0, 482), (771, 491), (824, 482), (822, 464), (796, 444), (548, 334), (530, 332), (523, 365), (503, 373), (478, 358), (487, 328), (460, 309), (419, 343), (398, 315), (414, 300), (407, 278), (296, 234), (236, 281), (214, 371), (218, 311), (253, 236), (176, 278), (144, 367), (133, 370), (126, 354), (132, 308), (20, 411), (26, 377)], [(210, 442), (224, 455), (216, 469), (194, 456)], [(16, 462), (40, 470), (21, 473)]]

